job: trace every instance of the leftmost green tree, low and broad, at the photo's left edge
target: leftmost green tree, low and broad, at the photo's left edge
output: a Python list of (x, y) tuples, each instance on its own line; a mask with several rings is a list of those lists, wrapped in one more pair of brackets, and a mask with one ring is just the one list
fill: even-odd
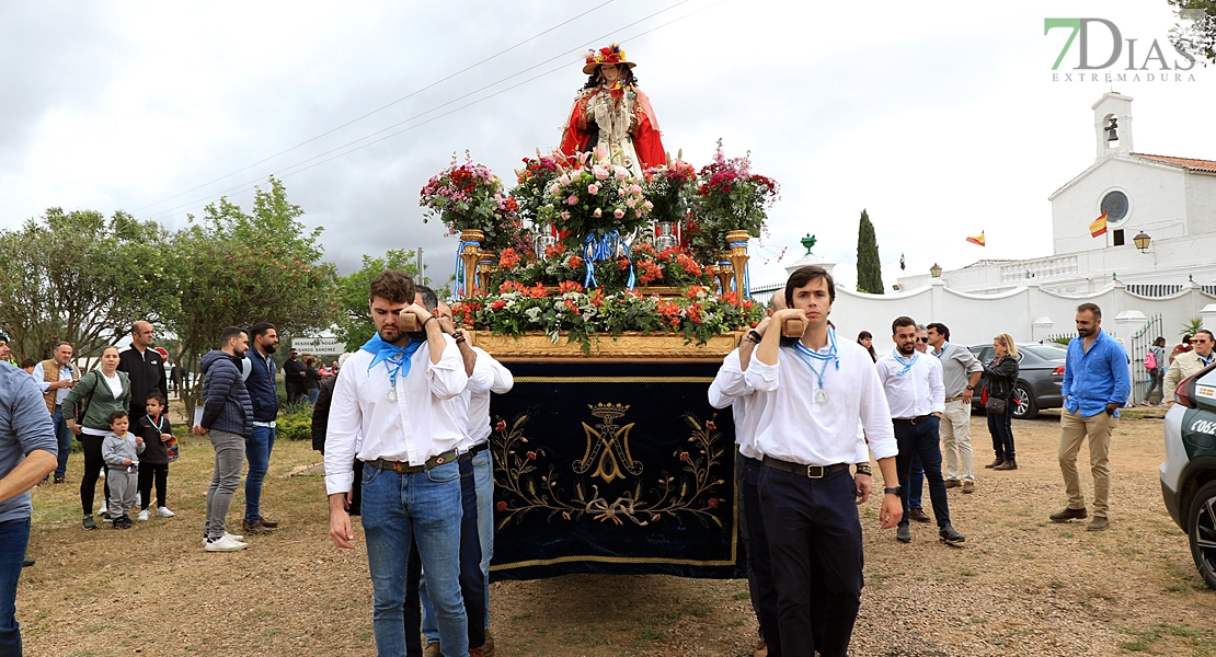
[(131, 322), (176, 316), (169, 236), (154, 221), (118, 211), (51, 208), (0, 231), (0, 327), (18, 359), (47, 358), (58, 341), (75, 356), (100, 353)]

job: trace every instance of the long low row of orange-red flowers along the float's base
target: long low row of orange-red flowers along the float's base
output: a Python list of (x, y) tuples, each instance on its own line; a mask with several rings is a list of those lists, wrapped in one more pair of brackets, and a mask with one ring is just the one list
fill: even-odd
[(575, 281), (563, 281), (552, 294), (544, 284), (503, 282), (497, 294), (467, 296), (452, 306), (457, 322), (495, 334), (519, 336), (542, 332), (556, 344), (568, 341), (590, 353), (597, 334), (625, 332), (682, 334), (686, 342), (705, 344), (710, 338), (739, 327), (755, 327), (765, 308), (745, 299), (739, 307), (734, 291), (715, 295), (700, 285), (683, 296), (659, 298), (637, 290), (604, 294), (585, 290)]

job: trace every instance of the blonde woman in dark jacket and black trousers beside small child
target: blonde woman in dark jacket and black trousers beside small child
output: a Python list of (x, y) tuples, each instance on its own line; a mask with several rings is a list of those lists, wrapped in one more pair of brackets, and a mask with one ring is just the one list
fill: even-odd
[[(81, 404), (81, 424), (72, 426), (72, 431), (80, 438), (84, 446), (84, 472), (80, 475), (80, 508), (84, 511), (81, 527), (96, 529), (97, 523), (92, 519), (92, 500), (97, 494), (97, 476), (106, 466), (101, 454), (101, 443), (109, 434), (109, 417), (116, 410), (130, 408), (131, 381), (125, 372), (118, 370), (118, 347), (106, 347), (101, 352), (101, 368), (94, 369), (80, 378), (80, 381), (63, 398), (64, 408), (73, 408)], [(108, 469), (107, 469), (108, 472)], [(109, 477), (102, 486), (105, 497), (111, 495)], [(111, 521), (109, 509), (103, 502), (97, 511), (103, 521)]]

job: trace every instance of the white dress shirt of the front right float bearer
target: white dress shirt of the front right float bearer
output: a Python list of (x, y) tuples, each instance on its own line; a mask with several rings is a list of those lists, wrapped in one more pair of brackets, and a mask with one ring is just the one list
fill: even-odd
[[(852, 340), (837, 340), (840, 369), (832, 361), (822, 364), (824, 403), (814, 400), (818, 376), (792, 347), (777, 350), (777, 364), (769, 366), (753, 355), (747, 381), (765, 396), (765, 412), (756, 420), (756, 449), (775, 459), (806, 465), (862, 463), (866, 444), (857, 423), (869, 438), (876, 459), (899, 452), (891, 414), (883, 385), (866, 347)], [(820, 350), (828, 353), (831, 345)], [(817, 366), (821, 367), (821, 366)]]

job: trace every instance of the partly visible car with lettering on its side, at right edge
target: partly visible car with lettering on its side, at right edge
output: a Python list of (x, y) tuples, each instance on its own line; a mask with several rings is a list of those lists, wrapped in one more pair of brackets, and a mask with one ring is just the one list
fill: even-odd
[(1216, 589), (1216, 364), (1183, 380), (1165, 414), (1161, 498), (1187, 532), (1190, 556)]

